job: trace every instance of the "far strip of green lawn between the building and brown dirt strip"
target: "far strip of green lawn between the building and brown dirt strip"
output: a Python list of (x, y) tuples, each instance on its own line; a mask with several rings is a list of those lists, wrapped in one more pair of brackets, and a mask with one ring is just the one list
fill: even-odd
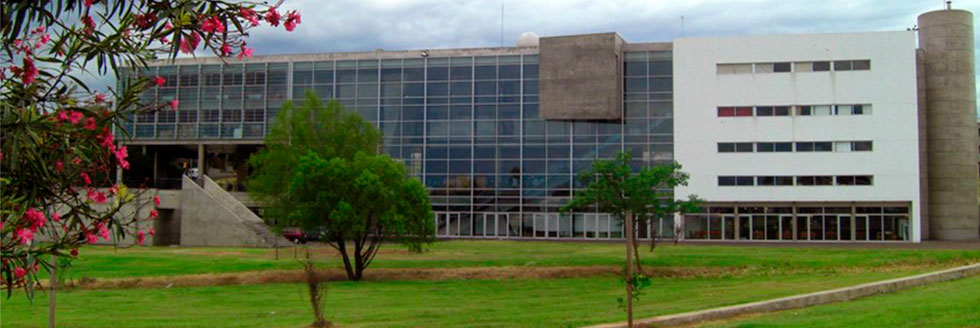
[[(646, 247), (644, 246), (644, 249)], [(613, 243), (444, 241), (421, 254), (386, 245), (372, 268), (453, 268), (489, 266), (622, 265), (623, 246)], [(71, 276), (119, 278), (298, 269), (292, 249), (85, 247)], [(340, 267), (340, 259), (319, 249), (324, 267)], [(951, 261), (980, 261), (980, 250), (849, 249), (663, 244), (654, 253), (642, 252), (647, 266), (737, 267), (766, 270), (829, 270), (874, 268), (886, 264), (945, 265)], [(368, 269), (370, 272), (370, 269)]]

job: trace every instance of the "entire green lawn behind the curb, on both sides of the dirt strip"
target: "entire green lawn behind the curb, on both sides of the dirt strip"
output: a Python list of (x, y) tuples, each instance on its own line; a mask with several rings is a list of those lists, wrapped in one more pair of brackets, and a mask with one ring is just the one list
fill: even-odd
[[(338, 259), (315, 249), (322, 266)], [(453, 241), (422, 254), (383, 249), (372, 268), (616, 266), (619, 244)], [(292, 250), (86, 247), (72, 276), (159, 277), (295, 269)], [(708, 270), (655, 277), (637, 316), (692, 311), (906, 276), (980, 261), (980, 250), (660, 245), (652, 268)], [(370, 275), (371, 269), (366, 274)], [(331, 282), (328, 318), (344, 327), (565, 327), (620, 321), (622, 281), (611, 275), (562, 279)], [(258, 284), (58, 294), (59, 327), (302, 327), (310, 310), (301, 284)], [(46, 322), (46, 296), (0, 301), (3, 327)], [(775, 320), (775, 319), (774, 319)]]

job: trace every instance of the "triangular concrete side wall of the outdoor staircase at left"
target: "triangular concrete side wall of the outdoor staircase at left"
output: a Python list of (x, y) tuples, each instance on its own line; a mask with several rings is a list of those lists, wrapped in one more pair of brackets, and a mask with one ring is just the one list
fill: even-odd
[(187, 176), (180, 202), (182, 246), (265, 247), (265, 240)]

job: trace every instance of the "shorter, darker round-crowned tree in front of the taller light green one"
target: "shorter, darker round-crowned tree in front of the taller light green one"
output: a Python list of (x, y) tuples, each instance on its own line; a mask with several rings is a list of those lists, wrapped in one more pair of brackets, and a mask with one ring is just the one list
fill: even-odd
[(350, 280), (361, 280), (386, 240), (415, 251), (432, 241), (429, 193), (390, 157), (357, 153), (323, 159), (309, 152), (296, 171), (282, 198), (290, 213), (286, 224), (322, 229), (343, 257)]

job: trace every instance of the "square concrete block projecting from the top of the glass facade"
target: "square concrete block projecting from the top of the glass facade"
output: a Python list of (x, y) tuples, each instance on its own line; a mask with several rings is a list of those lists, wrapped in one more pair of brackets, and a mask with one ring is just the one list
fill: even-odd
[(621, 118), (622, 47), (616, 33), (541, 38), (541, 118)]

